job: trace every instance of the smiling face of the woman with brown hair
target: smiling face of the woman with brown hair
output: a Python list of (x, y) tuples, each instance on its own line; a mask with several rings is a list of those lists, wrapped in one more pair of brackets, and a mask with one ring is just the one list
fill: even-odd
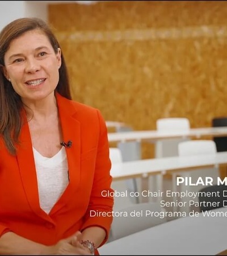
[(54, 52), (40, 30), (24, 33), (12, 40), (5, 53), (3, 71), (23, 102), (43, 100), (54, 92), (59, 80), (61, 50)]

